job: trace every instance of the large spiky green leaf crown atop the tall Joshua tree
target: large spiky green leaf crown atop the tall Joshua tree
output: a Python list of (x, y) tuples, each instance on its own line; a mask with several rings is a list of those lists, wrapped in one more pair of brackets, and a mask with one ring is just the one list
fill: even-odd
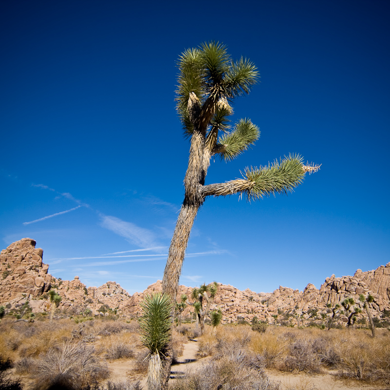
[[(195, 93), (202, 107), (210, 96), (218, 102), (220, 99), (231, 100), (249, 93), (259, 77), (252, 62), (242, 57), (233, 62), (226, 46), (218, 42), (203, 43), (199, 48), (187, 49), (179, 57), (178, 67), (177, 110), (186, 135), (193, 132), (193, 123), (187, 112), (191, 93)], [(231, 113), (231, 110), (215, 110), (211, 122), (226, 123)]]

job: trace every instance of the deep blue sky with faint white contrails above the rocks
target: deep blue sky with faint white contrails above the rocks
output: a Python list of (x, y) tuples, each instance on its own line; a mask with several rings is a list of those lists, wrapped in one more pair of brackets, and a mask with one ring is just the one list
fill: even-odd
[(388, 1), (4, 1), (0, 5), (1, 249), (30, 237), (49, 272), (161, 279), (183, 201), (189, 141), (176, 60), (220, 41), (260, 83), (235, 120), (257, 144), (206, 184), (288, 153), (322, 164), (289, 196), (207, 199), (182, 284), (319, 288), (390, 261)]

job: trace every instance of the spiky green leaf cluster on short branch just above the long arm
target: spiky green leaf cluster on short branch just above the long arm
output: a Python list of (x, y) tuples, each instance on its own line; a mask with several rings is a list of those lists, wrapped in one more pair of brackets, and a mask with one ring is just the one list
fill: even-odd
[(221, 158), (230, 161), (253, 145), (260, 137), (260, 131), (250, 119), (241, 119), (234, 130), (223, 134), (218, 143), (223, 145)]

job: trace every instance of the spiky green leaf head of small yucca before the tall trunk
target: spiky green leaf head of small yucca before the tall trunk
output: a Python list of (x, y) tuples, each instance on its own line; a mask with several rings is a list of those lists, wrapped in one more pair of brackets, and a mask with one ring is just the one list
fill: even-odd
[(162, 353), (171, 337), (172, 303), (166, 294), (146, 296), (141, 303), (144, 315), (139, 320), (141, 342), (150, 353)]

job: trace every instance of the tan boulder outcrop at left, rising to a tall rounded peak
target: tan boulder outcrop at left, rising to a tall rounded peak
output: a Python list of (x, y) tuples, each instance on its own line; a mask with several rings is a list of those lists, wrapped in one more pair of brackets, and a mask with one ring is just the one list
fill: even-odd
[(73, 280), (56, 279), (48, 274), (49, 265), (42, 262), (43, 250), (36, 241), (25, 238), (13, 242), (0, 253), (0, 303), (10, 310), (20, 307), (26, 300), (33, 313), (50, 311), (47, 294), (55, 289), (62, 298), (59, 309), (72, 314), (107, 309), (122, 313), (124, 302), (130, 295), (116, 282), (100, 287), (88, 287), (75, 276)]

